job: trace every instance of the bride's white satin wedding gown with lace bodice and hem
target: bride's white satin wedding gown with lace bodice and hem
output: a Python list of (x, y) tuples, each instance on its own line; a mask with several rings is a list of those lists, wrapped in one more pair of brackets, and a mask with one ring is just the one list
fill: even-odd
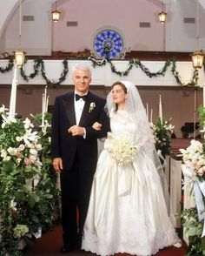
[[(137, 127), (125, 111), (113, 112), (110, 123), (113, 135), (126, 133), (136, 141)], [(127, 165), (116, 164), (105, 141), (83, 230), (86, 251), (102, 256), (151, 255), (180, 242), (169, 220), (159, 174), (138, 137), (141, 147)]]

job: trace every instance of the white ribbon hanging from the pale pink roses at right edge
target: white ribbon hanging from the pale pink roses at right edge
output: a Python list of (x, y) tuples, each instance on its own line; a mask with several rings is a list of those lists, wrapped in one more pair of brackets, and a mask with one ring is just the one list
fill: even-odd
[(200, 181), (195, 176), (195, 171), (188, 168), (186, 165), (182, 165), (182, 172), (184, 176), (187, 176), (189, 179), (192, 179), (194, 192), (195, 192), (195, 205), (198, 212), (198, 219), (202, 221), (203, 219), (203, 230), (202, 237), (205, 236), (205, 207), (203, 203), (203, 197), (205, 197), (205, 181)]

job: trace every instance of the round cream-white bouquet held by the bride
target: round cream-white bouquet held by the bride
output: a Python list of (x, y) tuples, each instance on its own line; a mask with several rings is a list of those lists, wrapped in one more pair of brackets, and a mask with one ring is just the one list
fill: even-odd
[(110, 132), (105, 140), (104, 147), (109, 150), (112, 158), (116, 159), (117, 165), (132, 163), (138, 150), (138, 147), (133, 144), (129, 135), (114, 136)]

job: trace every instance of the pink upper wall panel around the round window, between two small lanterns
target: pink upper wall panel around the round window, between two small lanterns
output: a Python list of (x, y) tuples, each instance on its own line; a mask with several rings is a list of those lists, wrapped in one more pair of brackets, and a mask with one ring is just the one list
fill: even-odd
[[(126, 48), (131, 47), (132, 51), (162, 51), (163, 27), (157, 17), (161, 10), (158, 0), (112, 0), (109, 3), (59, 0), (57, 9), (62, 12), (62, 17), (53, 24), (53, 51), (90, 49), (96, 31), (104, 26), (122, 31)], [(67, 21), (76, 21), (78, 26), (67, 27)], [(151, 28), (140, 28), (140, 22), (149, 22)]]

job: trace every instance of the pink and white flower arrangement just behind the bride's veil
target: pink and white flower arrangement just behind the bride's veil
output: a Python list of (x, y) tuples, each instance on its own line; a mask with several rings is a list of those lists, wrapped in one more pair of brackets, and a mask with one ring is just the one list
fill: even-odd
[(161, 118), (157, 118), (155, 124), (150, 123), (155, 138), (156, 152), (160, 151), (163, 158), (169, 155), (171, 150), (171, 135), (175, 126), (171, 125), (170, 121), (171, 119), (165, 121)]

